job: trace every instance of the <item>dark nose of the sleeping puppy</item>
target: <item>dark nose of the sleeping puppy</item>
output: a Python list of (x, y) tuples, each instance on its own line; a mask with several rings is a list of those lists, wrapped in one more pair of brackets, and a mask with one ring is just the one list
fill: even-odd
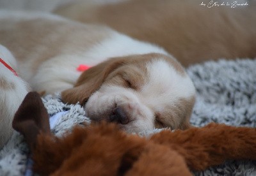
[(113, 114), (110, 115), (109, 121), (116, 122), (118, 124), (127, 124), (129, 122), (129, 118), (122, 108), (116, 107), (113, 110)]

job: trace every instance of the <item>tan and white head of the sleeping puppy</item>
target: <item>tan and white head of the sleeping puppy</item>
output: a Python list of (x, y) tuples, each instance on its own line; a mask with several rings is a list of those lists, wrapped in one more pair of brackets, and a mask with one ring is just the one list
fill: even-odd
[(79, 101), (93, 121), (117, 122), (128, 132), (186, 129), (195, 87), (173, 57), (163, 54), (115, 57), (83, 72), (63, 101)]

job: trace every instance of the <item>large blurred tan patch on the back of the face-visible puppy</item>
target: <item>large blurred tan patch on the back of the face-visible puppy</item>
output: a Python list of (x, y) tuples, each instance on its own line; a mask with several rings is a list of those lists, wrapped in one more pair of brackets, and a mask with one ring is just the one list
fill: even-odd
[(36, 18), (17, 22), (10, 18), (0, 22), (1, 44), (12, 51), (17, 61), (32, 62), (31, 70), (34, 72), (42, 62), (52, 57), (86, 51), (109, 35), (106, 27), (80, 25), (65, 20)]

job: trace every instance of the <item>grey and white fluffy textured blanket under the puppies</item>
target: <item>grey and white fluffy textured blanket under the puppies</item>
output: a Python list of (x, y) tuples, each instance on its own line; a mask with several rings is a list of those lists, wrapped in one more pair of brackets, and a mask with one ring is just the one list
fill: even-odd
[[(205, 62), (188, 68), (196, 86), (197, 99), (191, 124), (205, 126), (209, 122), (256, 128), (256, 60)], [(65, 105), (60, 96), (45, 96), (44, 104), (50, 115), (62, 115), (52, 132), (61, 136), (75, 124), (90, 119), (80, 105)], [(161, 129), (141, 131), (148, 136)], [(22, 175), (26, 169), (28, 146), (23, 137), (14, 133), (0, 151), (0, 175)], [(200, 159), (200, 158), (198, 158)], [(227, 161), (195, 175), (256, 175), (256, 161)]]

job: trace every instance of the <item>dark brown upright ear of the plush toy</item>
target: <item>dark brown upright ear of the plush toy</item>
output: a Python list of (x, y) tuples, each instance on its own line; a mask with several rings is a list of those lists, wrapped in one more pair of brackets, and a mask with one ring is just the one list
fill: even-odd
[(26, 95), (13, 118), (12, 126), (24, 135), (30, 149), (35, 147), (39, 133), (51, 133), (49, 115), (37, 92)]

